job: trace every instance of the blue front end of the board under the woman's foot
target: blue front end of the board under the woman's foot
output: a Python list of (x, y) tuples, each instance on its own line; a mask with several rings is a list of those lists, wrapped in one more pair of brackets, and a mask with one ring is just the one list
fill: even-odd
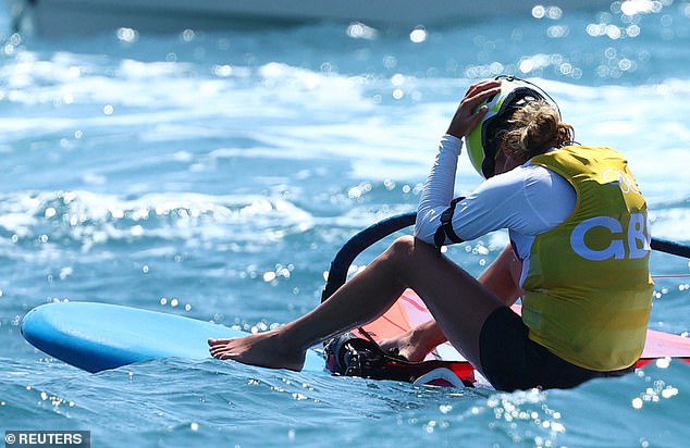
[[(46, 353), (88, 372), (135, 362), (210, 358), (209, 338), (246, 333), (175, 314), (96, 302), (56, 302), (30, 310), (22, 321), (24, 338)], [(309, 351), (306, 369), (323, 370)]]

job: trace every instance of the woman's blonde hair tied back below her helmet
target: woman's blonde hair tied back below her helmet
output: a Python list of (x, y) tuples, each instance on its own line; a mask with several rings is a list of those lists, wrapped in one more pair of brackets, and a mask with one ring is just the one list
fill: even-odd
[(551, 148), (572, 142), (572, 126), (560, 121), (558, 112), (546, 101), (530, 101), (515, 109), (496, 133), (500, 146), (518, 160), (528, 161)]

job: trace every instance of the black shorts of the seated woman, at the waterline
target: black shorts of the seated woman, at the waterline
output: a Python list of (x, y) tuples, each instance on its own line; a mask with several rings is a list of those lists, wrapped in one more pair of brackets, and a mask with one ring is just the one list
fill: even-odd
[(508, 307), (486, 318), (479, 336), (479, 356), (484, 376), (496, 389), (570, 388), (588, 379), (621, 376), (634, 370), (596, 372), (580, 368), (534, 343), (528, 334), (522, 319)]

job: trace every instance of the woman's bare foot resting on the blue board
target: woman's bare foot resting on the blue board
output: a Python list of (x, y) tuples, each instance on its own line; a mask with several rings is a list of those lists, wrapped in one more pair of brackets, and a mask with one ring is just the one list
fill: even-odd
[(233, 339), (209, 339), (208, 344), (211, 356), (222, 360), (297, 372), (305, 364), (305, 351), (286, 348), (274, 331)]

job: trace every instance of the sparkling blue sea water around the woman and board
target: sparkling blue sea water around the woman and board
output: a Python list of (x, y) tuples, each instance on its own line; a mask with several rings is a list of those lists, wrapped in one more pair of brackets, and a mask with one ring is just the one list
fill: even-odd
[[(415, 30), (3, 30), (0, 428), (90, 431), (95, 447), (685, 446), (678, 362), (515, 394), (215, 360), (89, 374), (19, 327), (58, 300), (249, 332), (299, 316), (341, 245), (415, 210), (458, 100), (500, 73), (549, 90), (578, 141), (624, 150), (654, 235), (690, 244), (690, 3), (625, 3)], [(457, 192), (479, 182), (464, 155)], [(448, 253), (477, 275), (506, 240)], [(652, 271), (670, 276), (650, 326), (686, 334), (688, 260), (655, 253)]]

